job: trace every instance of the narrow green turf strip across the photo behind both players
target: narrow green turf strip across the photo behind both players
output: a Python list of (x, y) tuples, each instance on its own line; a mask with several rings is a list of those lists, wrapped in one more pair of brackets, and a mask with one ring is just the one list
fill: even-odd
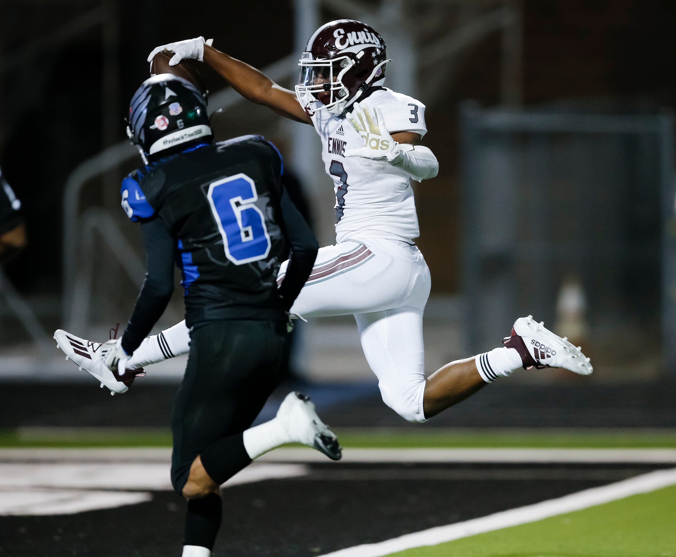
[[(344, 428), (343, 447), (577, 447), (676, 448), (674, 429)], [(0, 430), (0, 447), (170, 447), (166, 428), (49, 428)]]

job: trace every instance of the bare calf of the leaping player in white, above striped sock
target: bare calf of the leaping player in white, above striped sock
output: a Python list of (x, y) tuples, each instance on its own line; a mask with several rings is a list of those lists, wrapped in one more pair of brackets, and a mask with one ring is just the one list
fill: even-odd
[(462, 402), (485, 385), (488, 383), (481, 379), (474, 358), (446, 364), (431, 374), (425, 383), (425, 418)]

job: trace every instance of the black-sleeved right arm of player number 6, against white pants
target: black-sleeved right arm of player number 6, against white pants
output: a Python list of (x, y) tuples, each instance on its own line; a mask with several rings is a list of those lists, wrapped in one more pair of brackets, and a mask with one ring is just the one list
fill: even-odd
[(312, 272), (319, 244), (285, 188), (282, 189), (279, 205), (284, 220), (285, 237), (291, 245), (291, 255), (287, 274), (279, 285), (278, 292), (285, 310), (290, 310)]

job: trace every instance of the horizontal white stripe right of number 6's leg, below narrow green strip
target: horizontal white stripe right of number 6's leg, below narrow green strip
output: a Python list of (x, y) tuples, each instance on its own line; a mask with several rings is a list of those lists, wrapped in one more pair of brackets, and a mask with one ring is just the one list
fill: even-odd
[[(276, 449), (265, 462), (331, 462), (313, 449)], [(343, 449), (340, 462), (647, 462), (676, 464), (676, 449)]]

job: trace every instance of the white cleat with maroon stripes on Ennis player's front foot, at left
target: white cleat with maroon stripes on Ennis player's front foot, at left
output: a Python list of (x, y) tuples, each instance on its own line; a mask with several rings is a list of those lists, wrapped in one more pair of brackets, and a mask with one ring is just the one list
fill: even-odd
[(143, 368), (141, 368), (135, 370), (136, 374), (131, 379), (118, 381), (113, 372), (103, 363), (110, 347), (114, 345), (80, 339), (80, 337), (76, 337), (62, 329), (54, 332), (54, 339), (59, 348), (66, 354), (66, 360), (68, 358), (73, 360), (81, 370), (83, 369), (92, 377), (95, 377), (101, 383), (101, 387), (103, 385), (108, 387), (112, 395), (115, 393), (126, 393), (129, 385), (134, 381), (136, 374), (143, 373)]

